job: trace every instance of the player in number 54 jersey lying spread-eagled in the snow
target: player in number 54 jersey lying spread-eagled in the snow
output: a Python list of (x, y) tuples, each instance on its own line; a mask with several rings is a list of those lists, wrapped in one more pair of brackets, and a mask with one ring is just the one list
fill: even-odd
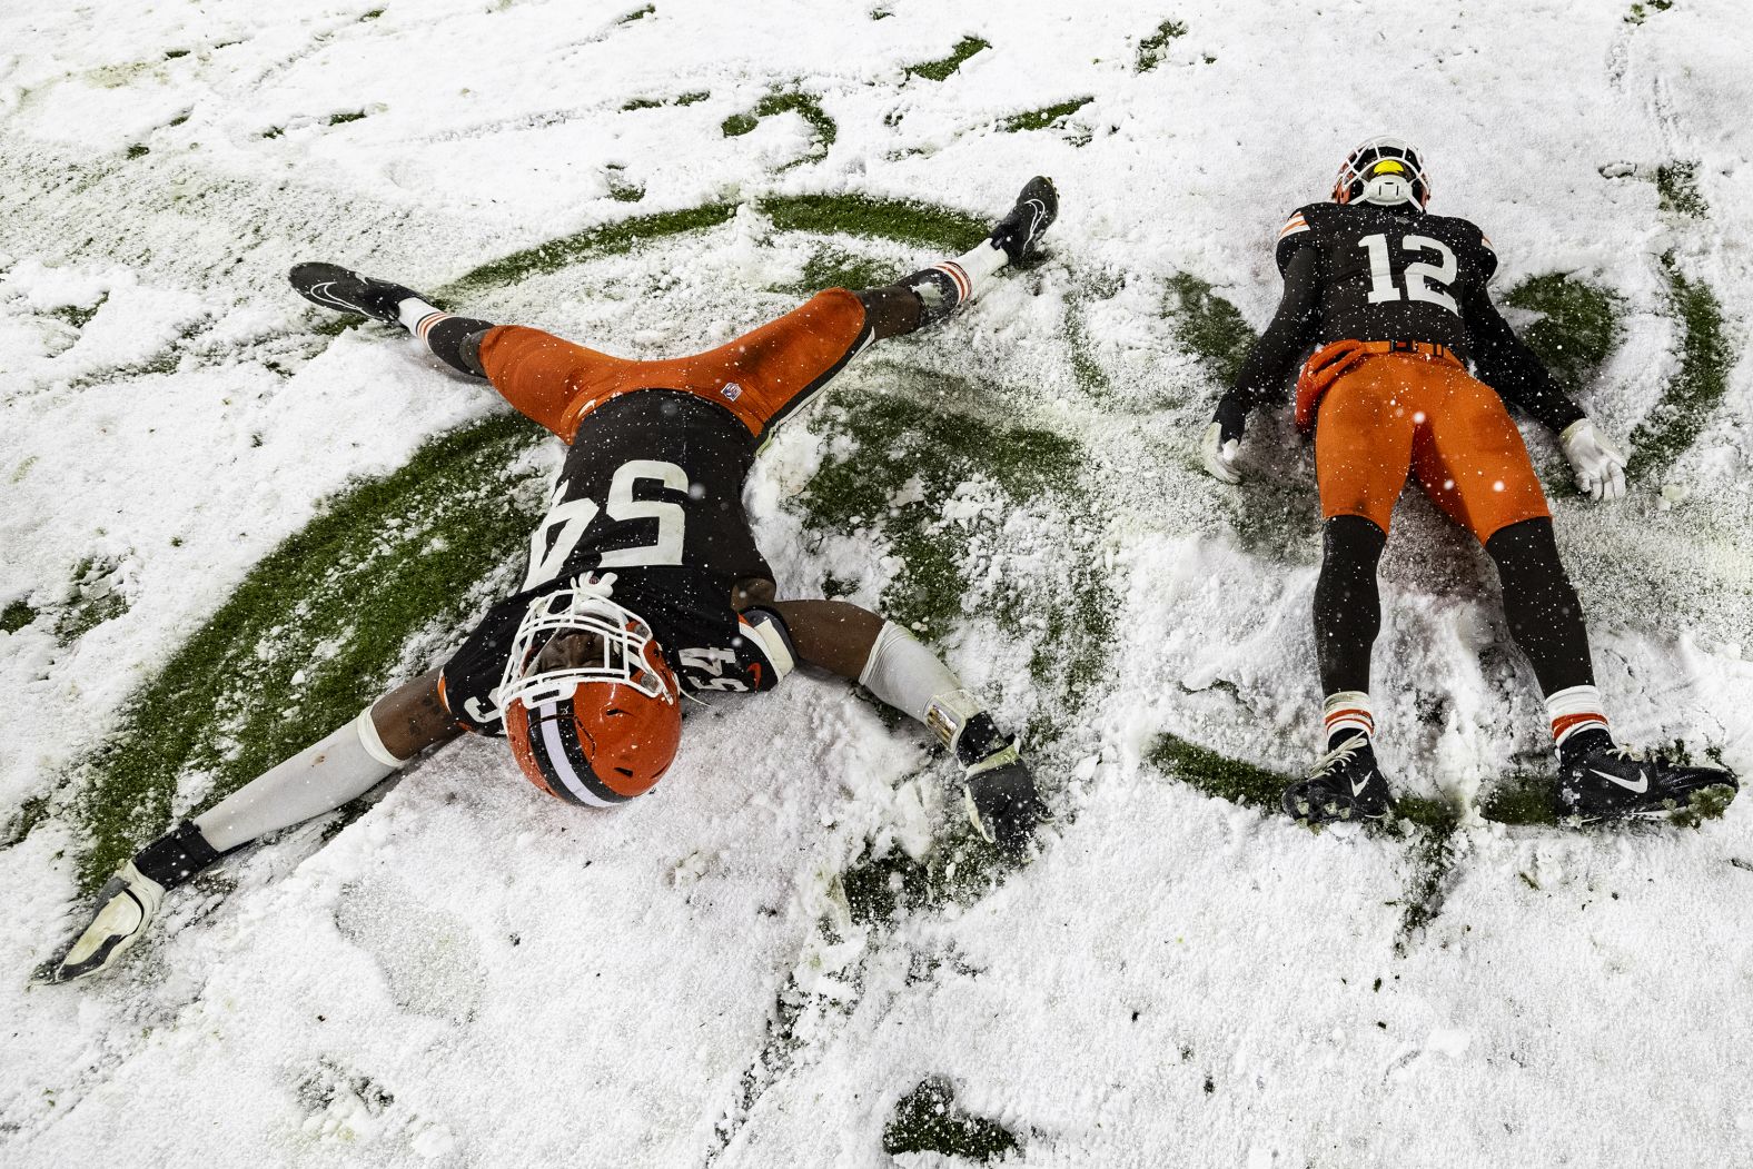
[(675, 759), (684, 691), (770, 691), (794, 662), (861, 682), (931, 727), (964, 768), (975, 829), (1020, 852), (1040, 801), (1017, 743), (906, 629), (841, 601), (777, 601), (742, 498), (775, 426), (871, 342), (934, 324), (973, 298), (1055, 214), (1054, 186), (1033, 179), (966, 256), (889, 287), (827, 289), (677, 361), (624, 361), (538, 329), (458, 317), (335, 265), (293, 268), (307, 300), (403, 324), (570, 445), (529, 571), (444, 668), (142, 848), (98, 892), (91, 922), (49, 978), (103, 969), (167, 889), (265, 832), (340, 808), (461, 731), (505, 736), (550, 796), (614, 808), (650, 790)]

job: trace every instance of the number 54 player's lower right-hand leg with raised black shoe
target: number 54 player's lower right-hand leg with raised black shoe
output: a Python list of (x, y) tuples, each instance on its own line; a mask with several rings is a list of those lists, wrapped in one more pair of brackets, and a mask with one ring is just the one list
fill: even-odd
[(887, 287), (859, 293), (875, 338), (899, 337), (943, 321), (978, 296), (999, 268), (1027, 259), (1057, 217), (1059, 191), (1052, 179), (1029, 179), (1017, 203), (973, 251)]

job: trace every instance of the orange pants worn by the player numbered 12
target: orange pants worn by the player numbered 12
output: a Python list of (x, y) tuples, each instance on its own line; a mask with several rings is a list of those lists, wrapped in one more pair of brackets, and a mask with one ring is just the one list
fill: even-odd
[(1551, 515), (1502, 400), (1453, 358), (1369, 354), (1320, 400), (1315, 477), (1322, 515), (1388, 529), (1406, 475), (1485, 543)]

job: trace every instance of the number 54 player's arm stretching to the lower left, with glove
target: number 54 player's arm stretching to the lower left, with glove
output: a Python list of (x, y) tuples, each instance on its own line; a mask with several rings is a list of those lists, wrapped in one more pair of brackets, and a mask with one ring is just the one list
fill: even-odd
[(110, 967), (151, 925), (165, 892), (258, 836), (333, 811), (377, 787), (459, 727), (438, 696), (438, 671), (396, 687), (319, 743), (184, 820), (103, 883), (91, 918), (46, 971), (61, 983)]

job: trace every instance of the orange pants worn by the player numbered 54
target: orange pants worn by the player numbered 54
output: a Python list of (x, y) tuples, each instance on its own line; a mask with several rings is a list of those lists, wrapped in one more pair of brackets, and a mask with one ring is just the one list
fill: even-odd
[(480, 338), (480, 366), (507, 401), (568, 443), (578, 419), (636, 389), (678, 389), (715, 401), (764, 438), (866, 344), (864, 301), (831, 287), (692, 358), (629, 361), (542, 329), (501, 324)]

